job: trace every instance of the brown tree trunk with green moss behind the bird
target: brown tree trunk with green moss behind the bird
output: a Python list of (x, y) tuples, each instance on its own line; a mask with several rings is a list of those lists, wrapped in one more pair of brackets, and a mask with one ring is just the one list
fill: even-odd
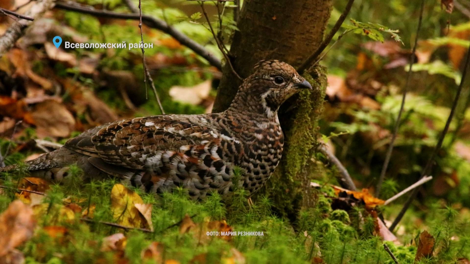
[[(237, 73), (248, 77), (260, 60), (277, 59), (294, 67), (320, 45), (331, 11), (331, 0), (245, 0), (238, 29), (230, 48)], [(279, 111), (285, 147), (282, 161), (260, 194), (274, 199), (276, 210), (292, 218), (295, 211), (310, 204), (310, 162), (317, 147), (317, 121), (326, 87), (325, 70), (314, 67), (303, 76), (314, 91), (303, 91)], [(227, 109), (241, 82), (230, 68), (223, 67), (214, 112)]]

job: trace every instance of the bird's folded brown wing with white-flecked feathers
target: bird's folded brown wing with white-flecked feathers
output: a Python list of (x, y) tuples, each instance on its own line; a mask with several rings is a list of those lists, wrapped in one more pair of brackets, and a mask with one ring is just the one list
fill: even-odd
[(184, 154), (195, 146), (219, 140), (219, 132), (206, 120), (203, 116), (181, 115), (125, 119), (83, 132), (65, 146), (106, 163), (141, 170), (149, 166), (152, 156)]

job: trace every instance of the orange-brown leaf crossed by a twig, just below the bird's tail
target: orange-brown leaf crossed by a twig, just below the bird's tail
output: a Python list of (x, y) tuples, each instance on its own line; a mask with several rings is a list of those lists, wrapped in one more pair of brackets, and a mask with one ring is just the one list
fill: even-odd
[[(45, 179), (25, 177), (18, 182), (18, 188), (44, 193), (49, 189), (49, 182)], [(41, 203), (44, 195), (20, 191), (15, 194), (16, 198), (31, 206)]]

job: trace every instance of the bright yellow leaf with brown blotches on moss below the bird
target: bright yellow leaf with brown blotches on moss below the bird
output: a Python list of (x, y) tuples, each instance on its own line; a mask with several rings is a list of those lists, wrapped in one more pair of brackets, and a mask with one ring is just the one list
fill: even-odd
[[(111, 210), (113, 216), (119, 225), (126, 227), (148, 228), (153, 230), (151, 221), (143, 216), (141, 211), (136, 208), (136, 204), (144, 204), (139, 194), (131, 191), (122, 184), (115, 184), (111, 190)], [(146, 214), (151, 215), (150, 208), (139, 206)], [(150, 211), (150, 212), (149, 212)]]

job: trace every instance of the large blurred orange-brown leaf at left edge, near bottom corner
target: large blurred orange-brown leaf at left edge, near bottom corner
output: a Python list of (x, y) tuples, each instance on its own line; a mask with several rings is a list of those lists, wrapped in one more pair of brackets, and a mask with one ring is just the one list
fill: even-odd
[(11, 202), (0, 215), (0, 257), (29, 240), (35, 226), (31, 207), (20, 200)]

